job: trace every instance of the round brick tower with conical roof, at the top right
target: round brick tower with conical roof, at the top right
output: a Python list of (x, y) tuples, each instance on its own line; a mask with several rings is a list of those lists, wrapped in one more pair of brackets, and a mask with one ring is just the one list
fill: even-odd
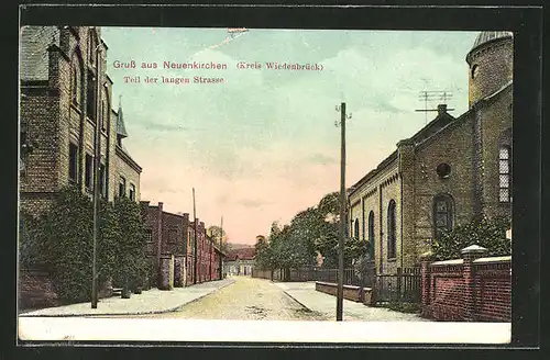
[(485, 31), (477, 35), (466, 55), (470, 106), (512, 80), (513, 45), (513, 33), (508, 31)]

